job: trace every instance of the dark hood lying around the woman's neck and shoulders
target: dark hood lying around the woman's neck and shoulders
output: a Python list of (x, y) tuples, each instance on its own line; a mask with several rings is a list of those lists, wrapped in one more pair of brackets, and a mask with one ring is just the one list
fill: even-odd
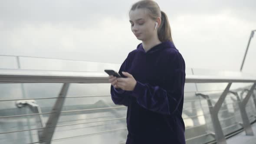
[(157, 52), (161, 49), (167, 49), (167, 48), (175, 48), (174, 46), (174, 43), (171, 42), (171, 41), (166, 41), (166, 42), (162, 42), (154, 47), (152, 47), (151, 49), (149, 49), (147, 52), (145, 52), (143, 46), (142, 46), (142, 43), (140, 43), (138, 46), (137, 46), (137, 50), (138, 51), (141, 51), (141, 52), (144, 52), (144, 53), (153, 53), (153, 52)]

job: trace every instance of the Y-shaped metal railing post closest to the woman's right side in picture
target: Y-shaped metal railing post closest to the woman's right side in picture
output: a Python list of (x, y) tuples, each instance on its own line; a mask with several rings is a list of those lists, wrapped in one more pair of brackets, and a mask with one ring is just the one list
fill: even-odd
[(209, 111), (210, 111), (210, 115), (211, 115), (211, 120), (212, 120), (212, 123), (213, 123), (215, 138), (216, 138), (216, 141), (217, 141), (218, 144), (226, 144), (226, 138), (225, 138), (225, 135), (224, 135), (223, 130), (222, 130), (221, 125), (220, 125), (220, 121), (219, 121), (219, 118), (218, 118), (218, 112), (221, 108), (221, 105), (222, 105), (223, 101), (226, 98), (226, 95), (229, 92), (231, 84), (232, 84), (232, 82), (230, 82), (226, 86), (224, 92), (220, 95), (220, 98), (218, 99), (218, 101), (216, 102), (216, 104), (214, 106), (212, 105), (212, 102), (210, 101), (208, 95), (196, 94), (196, 95), (200, 95), (203, 98), (207, 99), (207, 103), (208, 103)]

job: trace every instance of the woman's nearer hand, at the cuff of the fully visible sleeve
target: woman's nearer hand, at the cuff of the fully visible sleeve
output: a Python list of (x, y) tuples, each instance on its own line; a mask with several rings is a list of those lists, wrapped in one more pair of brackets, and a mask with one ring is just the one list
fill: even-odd
[(121, 88), (125, 91), (133, 91), (137, 81), (133, 78), (131, 74), (128, 72), (122, 72), (123, 75), (127, 76), (127, 78), (116, 78), (117, 82), (114, 81), (115, 88)]

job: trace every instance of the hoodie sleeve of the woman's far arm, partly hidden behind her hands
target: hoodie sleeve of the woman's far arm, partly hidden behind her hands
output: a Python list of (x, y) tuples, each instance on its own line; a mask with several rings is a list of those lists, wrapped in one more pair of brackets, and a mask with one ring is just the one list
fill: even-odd
[[(130, 54), (129, 54), (130, 55)], [(118, 73), (123, 77), (124, 75), (122, 74), (122, 72), (126, 72), (127, 70), (127, 66), (128, 66), (128, 58), (129, 55), (127, 56), (127, 58), (125, 59), (125, 61), (122, 63)], [(122, 90), (121, 88), (114, 88), (113, 85), (111, 85), (110, 88), (110, 93), (111, 93), (111, 98), (112, 101), (116, 104), (116, 105), (125, 105), (128, 106), (128, 91)]]

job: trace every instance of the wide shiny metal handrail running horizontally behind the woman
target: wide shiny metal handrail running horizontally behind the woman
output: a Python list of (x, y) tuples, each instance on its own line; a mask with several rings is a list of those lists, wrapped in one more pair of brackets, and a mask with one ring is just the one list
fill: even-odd
[[(30, 69), (0, 69), (0, 82), (109, 83), (105, 72), (64, 72)], [(228, 77), (186, 75), (186, 83), (256, 82), (256, 76)]]

